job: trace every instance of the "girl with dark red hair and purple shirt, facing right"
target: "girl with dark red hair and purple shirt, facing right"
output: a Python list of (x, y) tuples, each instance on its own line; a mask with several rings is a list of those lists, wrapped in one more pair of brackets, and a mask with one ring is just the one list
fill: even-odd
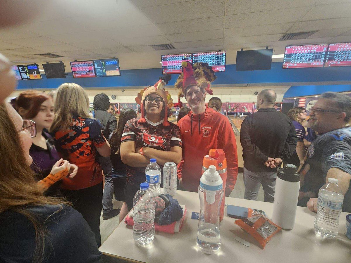
[[(32, 145), (29, 154), (33, 159), (32, 170), (40, 181), (52, 173), (52, 169), (67, 166), (68, 161), (60, 158), (53, 137), (48, 133), (54, 118), (54, 103), (50, 96), (35, 90), (28, 90), (19, 94), (14, 100), (14, 108), (24, 119), (23, 129), (31, 133)], [(78, 171), (75, 164), (69, 164), (69, 178), (73, 178)], [(62, 196), (60, 186), (62, 180), (52, 186), (42, 189), (45, 196)]]

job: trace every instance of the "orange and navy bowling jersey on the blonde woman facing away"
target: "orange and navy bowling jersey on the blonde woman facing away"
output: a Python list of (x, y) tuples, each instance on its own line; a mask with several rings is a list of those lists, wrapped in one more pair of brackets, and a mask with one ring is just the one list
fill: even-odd
[(79, 190), (102, 182), (102, 169), (97, 158), (97, 149), (102, 147), (105, 137), (101, 124), (94, 119), (73, 117), (69, 130), (54, 133), (58, 152), (70, 163), (78, 166), (73, 178), (62, 179), (62, 189)]

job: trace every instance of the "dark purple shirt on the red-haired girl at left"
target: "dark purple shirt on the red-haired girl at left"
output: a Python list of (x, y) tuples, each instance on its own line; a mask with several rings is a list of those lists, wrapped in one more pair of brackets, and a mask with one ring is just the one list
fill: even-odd
[[(29, 154), (32, 156), (33, 163), (31, 164), (32, 170), (37, 175), (37, 180), (40, 181), (50, 174), (50, 171), (54, 164), (60, 160), (60, 156), (57, 153), (57, 150), (54, 146), (54, 140), (45, 131), (42, 132), (42, 135), (46, 139), (47, 149), (41, 148), (40, 146), (32, 143), (31, 148), (29, 149)], [(57, 196), (60, 195), (59, 189), (62, 181), (54, 183), (49, 187), (44, 195), (46, 196)]]

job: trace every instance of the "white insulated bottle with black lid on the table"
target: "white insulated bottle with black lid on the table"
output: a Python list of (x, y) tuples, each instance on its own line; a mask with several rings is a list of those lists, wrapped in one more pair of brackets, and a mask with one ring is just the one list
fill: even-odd
[(294, 227), (299, 190), (297, 167), (288, 163), (278, 169), (272, 221), (283, 229)]

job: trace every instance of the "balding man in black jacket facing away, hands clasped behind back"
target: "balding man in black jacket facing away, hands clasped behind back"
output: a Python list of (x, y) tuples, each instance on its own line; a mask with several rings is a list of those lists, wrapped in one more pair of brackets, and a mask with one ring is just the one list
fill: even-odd
[(262, 184), (264, 201), (273, 202), (277, 167), (296, 150), (294, 125), (284, 113), (273, 108), (276, 99), (274, 90), (262, 90), (257, 96), (258, 111), (241, 123), (245, 199), (256, 200)]

